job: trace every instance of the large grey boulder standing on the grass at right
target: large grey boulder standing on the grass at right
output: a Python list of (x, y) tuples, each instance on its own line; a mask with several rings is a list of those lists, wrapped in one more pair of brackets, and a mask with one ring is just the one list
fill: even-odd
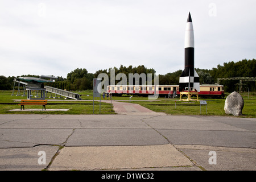
[(224, 106), (225, 113), (235, 116), (242, 115), (243, 105), (243, 97), (237, 92), (232, 92), (226, 97)]

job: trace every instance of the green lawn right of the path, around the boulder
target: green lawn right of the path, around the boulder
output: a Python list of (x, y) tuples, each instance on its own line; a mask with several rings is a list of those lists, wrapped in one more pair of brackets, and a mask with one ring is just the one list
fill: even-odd
[[(243, 106), (241, 117), (255, 118), (256, 114), (256, 96), (247, 96), (247, 93), (241, 94), (245, 105)], [(227, 116), (224, 111), (225, 99), (203, 99), (199, 100), (207, 101), (207, 108), (205, 105), (201, 105), (201, 115), (222, 115)], [(176, 109), (175, 109), (176, 102)], [(199, 101), (179, 101), (179, 98), (166, 98), (156, 101), (133, 101), (133, 103), (147, 107), (150, 110), (156, 112), (163, 112), (172, 115), (200, 115), (200, 102)], [(206, 114), (207, 109), (207, 114)]]

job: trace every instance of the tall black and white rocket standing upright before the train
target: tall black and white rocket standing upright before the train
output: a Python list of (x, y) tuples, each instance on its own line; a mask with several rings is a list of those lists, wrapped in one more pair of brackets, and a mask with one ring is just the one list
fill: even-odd
[(190, 12), (185, 31), (185, 68), (180, 75), (179, 90), (193, 90), (200, 92), (199, 76), (194, 67), (194, 30)]

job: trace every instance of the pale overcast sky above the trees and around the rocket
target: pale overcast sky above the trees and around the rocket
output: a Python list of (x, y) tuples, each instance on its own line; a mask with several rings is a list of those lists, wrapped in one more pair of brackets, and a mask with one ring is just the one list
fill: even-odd
[(184, 69), (191, 12), (195, 68), (256, 57), (255, 0), (0, 1), (0, 75), (67, 77), (76, 68)]

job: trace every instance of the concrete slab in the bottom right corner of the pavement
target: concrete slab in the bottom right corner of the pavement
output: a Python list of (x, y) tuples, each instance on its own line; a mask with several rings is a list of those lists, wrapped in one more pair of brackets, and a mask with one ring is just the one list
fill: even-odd
[[(201, 145), (175, 145), (197, 165), (208, 171), (256, 171), (256, 149), (255, 148), (234, 148), (214, 147)], [(213, 154), (216, 163), (209, 162)]]

